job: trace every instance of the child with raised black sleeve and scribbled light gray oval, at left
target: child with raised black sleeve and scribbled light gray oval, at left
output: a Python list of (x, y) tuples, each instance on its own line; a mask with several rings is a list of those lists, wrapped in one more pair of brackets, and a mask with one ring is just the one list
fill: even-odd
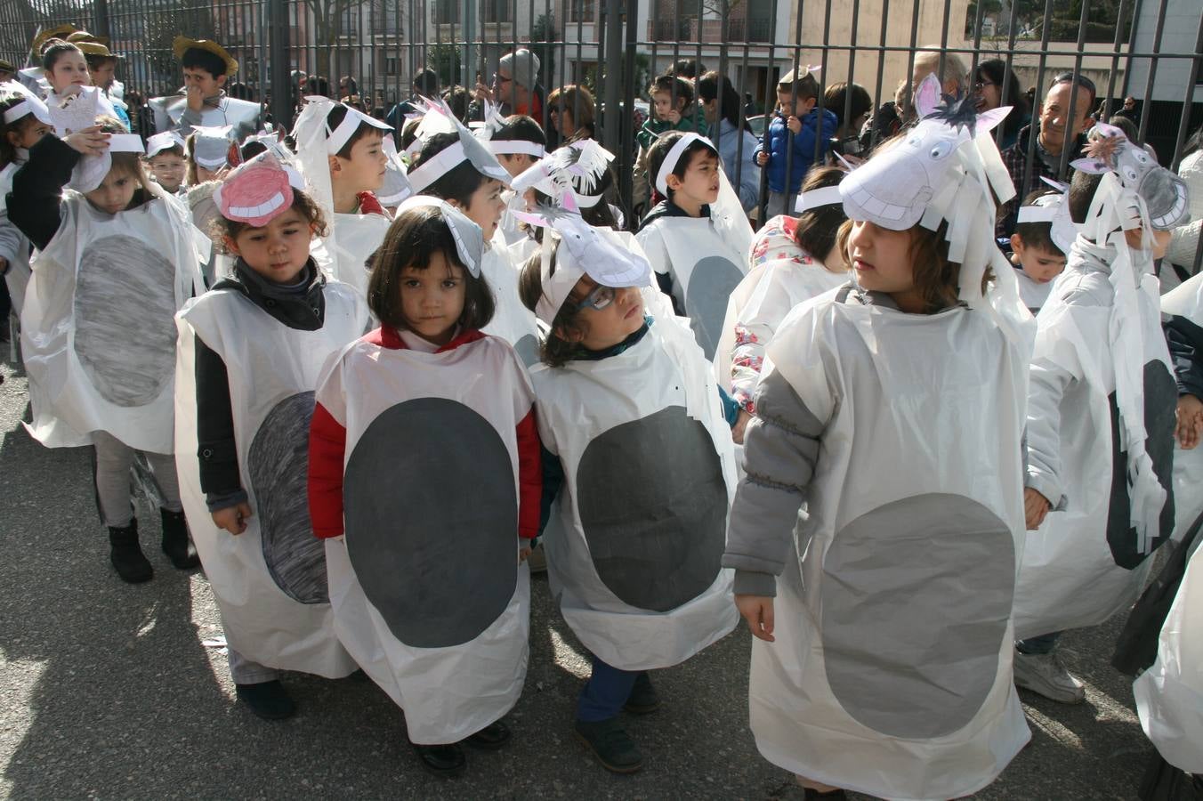
[[(91, 444), (109, 558), (125, 581), (153, 568), (138, 545), (130, 467), (143, 451), (162, 496), (162, 548), (197, 564), (179, 505), (172, 441), (172, 316), (200, 286), (186, 214), (142, 170), (142, 142), (100, 118), (30, 148), (8, 218), (41, 250), (22, 310), (30, 433), (49, 447)], [(70, 189), (67, 189), (70, 186)]]

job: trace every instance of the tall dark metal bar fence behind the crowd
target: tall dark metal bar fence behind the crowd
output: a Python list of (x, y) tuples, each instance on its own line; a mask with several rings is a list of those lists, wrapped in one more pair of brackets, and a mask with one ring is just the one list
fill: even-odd
[[(380, 112), (407, 99), (426, 66), (440, 88), (470, 90), (503, 54), (528, 47), (545, 89), (593, 91), (598, 136), (620, 156), (624, 190), (648, 81), (681, 59), (749, 94), (741, 119), (772, 109), (777, 78), (794, 64), (822, 66), (826, 85), (863, 85), (878, 108), (917, 55), (936, 52), (941, 71), (958, 57), (970, 76), (985, 59), (1005, 60), (1005, 97), (1015, 82), (1038, 103), (1062, 71), (1092, 79), (1103, 119), (1133, 96), (1140, 137), (1171, 167), (1203, 124), (1198, 0), (0, 0), (0, 54), (26, 63), (34, 35), (60, 23), (111, 38), (135, 103), (179, 88), (177, 34), (215, 38), (241, 63), (235, 91), (285, 123), (297, 71), (310, 76), (309, 91), (324, 77), (332, 96), (350, 93), (346, 83), (340, 91), (350, 77)], [(851, 103), (849, 94), (834, 111)]]

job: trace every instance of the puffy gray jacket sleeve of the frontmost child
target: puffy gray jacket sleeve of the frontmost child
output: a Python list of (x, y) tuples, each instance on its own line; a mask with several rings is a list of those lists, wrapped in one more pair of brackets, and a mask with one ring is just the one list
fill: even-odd
[(784, 569), (825, 425), (778, 372), (761, 376), (723, 554), (723, 566), (735, 569), (736, 593), (776, 595), (774, 577)]

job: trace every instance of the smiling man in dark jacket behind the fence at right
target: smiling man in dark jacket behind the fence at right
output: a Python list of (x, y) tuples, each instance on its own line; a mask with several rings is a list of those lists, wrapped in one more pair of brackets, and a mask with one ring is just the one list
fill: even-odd
[[(1072, 95), (1077, 96), (1073, 97), (1071, 108)], [(1073, 72), (1062, 72), (1053, 78), (1044, 102), (1041, 103), (1039, 117), (1031, 125), (1020, 129), (1015, 143), (1002, 152), (1002, 161), (1015, 185), (1015, 197), (1003, 203), (998, 213), (998, 222), (994, 229), (997, 238), (1009, 238), (1015, 232), (1019, 200), (1036, 189), (1042, 177), (1057, 178), (1066, 147), (1069, 148), (1066, 164), (1081, 156), (1081, 147), (1085, 144), (1083, 131), (1089, 127), (1090, 109), (1094, 107), (1095, 83), (1090, 78), (1084, 75), (1075, 78)], [(1035, 143), (1031, 141), (1033, 135)], [(1027, 158), (1030, 147), (1033, 147), (1031, 161)]]

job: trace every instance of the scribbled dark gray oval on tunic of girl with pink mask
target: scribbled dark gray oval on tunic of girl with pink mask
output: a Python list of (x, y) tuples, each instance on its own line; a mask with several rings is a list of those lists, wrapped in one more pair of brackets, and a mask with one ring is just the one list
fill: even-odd
[(294, 394), (267, 414), (250, 443), (247, 471), (267, 571), (292, 600), (327, 604), (326, 546), (313, 535), (307, 488), (313, 396)]

